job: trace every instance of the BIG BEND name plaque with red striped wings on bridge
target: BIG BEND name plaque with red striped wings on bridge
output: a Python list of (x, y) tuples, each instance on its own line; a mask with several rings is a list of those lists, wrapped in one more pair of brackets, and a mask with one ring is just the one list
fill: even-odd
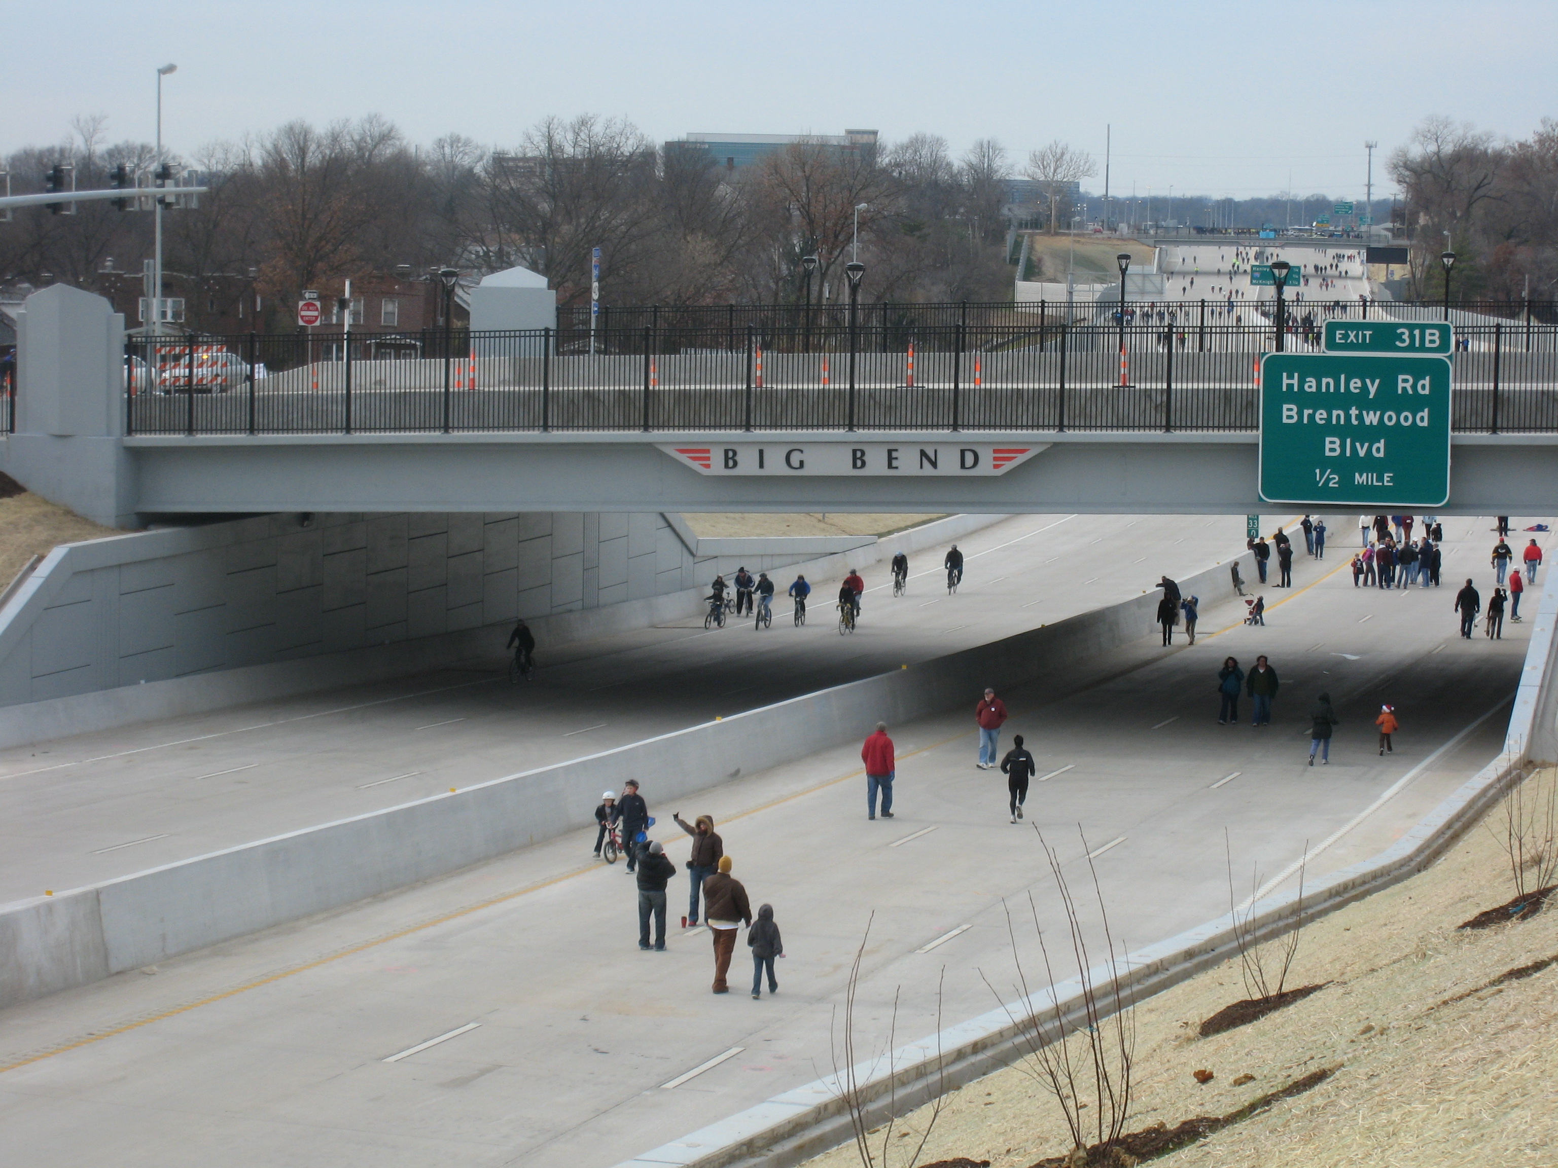
[(700, 475), (989, 477), (1049, 449), (1049, 442), (657, 442)]

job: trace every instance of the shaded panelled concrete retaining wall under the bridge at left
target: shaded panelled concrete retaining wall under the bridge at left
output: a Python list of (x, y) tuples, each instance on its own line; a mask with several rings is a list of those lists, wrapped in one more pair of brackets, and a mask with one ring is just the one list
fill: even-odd
[[(958, 539), (952, 515), (849, 554)], [(698, 556), (657, 514), (257, 515), (67, 544), (0, 604), (0, 746), (495, 659), (681, 620), (715, 572), (802, 564), (832, 540)], [(851, 540), (858, 542), (858, 540)], [(726, 551), (728, 548), (710, 548)], [(823, 559), (816, 559), (821, 554)]]

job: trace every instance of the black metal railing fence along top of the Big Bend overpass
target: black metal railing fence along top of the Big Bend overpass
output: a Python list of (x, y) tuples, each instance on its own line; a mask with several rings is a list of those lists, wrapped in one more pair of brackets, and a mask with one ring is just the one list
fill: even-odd
[[(132, 434), (569, 430), (1242, 430), (1257, 428), (1260, 305), (1133, 305), (1064, 324), (1036, 313), (974, 330), (745, 325), (552, 329), (407, 339), (315, 333), (134, 338)], [(1309, 308), (1310, 305), (1304, 305)], [(1270, 310), (1270, 304), (1264, 305)], [(1320, 350), (1295, 313), (1284, 347)], [(975, 343), (977, 338), (977, 343)], [(712, 339), (721, 341), (710, 344)], [(1558, 327), (1457, 327), (1454, 424), (1558, 431)]]

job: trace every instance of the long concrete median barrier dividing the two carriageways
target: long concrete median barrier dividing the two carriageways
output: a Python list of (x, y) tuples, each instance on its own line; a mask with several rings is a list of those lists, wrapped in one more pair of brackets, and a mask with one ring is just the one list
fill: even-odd
[[(946, 522), (946, 520), (944, 520)], [(921, 536), (922, 539), (924, 536)], [(882, 547), (913, 542), (904, 533)], [(854, 553), (851, 553), (854, 554)], [(1250, 558), (1242, 570), (1253, 572)], [(1215, 604), (1229, 567), (1181, 587)], [(594, 822), (623, 774), (657, 799), (712, 786), (1011, 687), (1154, 629), (1158, 593), (908, 670), (838, 685), (555, 766), (0, 908), (0, 1006), (491, 860)], [(64, 950), (61, 950), (64, 947)]]

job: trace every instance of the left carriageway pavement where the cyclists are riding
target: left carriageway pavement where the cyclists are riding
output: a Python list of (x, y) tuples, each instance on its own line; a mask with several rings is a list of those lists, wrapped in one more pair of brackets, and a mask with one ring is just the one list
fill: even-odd
[[(1139, 595), (1243, 548), (1243, 517), (1019, 515), (865, 572), (858, 631), (837, 632), (838, 579), (810, 621), (787, 600), (773, 628), (706, 632), (703, 618), (576, 645), (541, 645), (533, 682), (503, 659), (379, 685), (0, 751), (0, 903), (578, 758), (810, 693)], [(840, 573), (841, 575), (841, 573)], [(781, 592), (795, 572), (779, 576)]]

